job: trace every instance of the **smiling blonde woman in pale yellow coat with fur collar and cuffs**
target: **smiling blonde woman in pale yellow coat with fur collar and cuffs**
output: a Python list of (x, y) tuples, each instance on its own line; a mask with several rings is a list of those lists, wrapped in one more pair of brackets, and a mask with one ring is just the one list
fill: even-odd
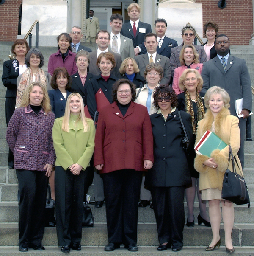
[[(236, 157), (240, 169), (237, 173), (243, 176), (240, 160), (237, 156), (240, 147), (240, 130), (238, 126), (238, 118), (230, 115), (229, 94), (226, 90), (218, 86), (213, 86), (204, 96), (204, 104), (207, 112), (204, 119), (198, 122), (196, 143), (200, 140), (204, 132), (207, 130), (215, 132), (227, 145), (231, 145), (233, 155)], [(232, 202), (221, 200), (221, 189), (226, 169), (232, 170), (232, 161), (228, 161), (229, 146), (224, 149), (215, 149), (211, 158), (205, 155), (197, 155), (194, 167), (200, 173), (199, 189), (202, 192), (202, 200), (209, 201), (209, 217), (213, 232), (213, 239), (210, 245), (205, 249), (212, 251), (221, 245), (220, 224), (221, 224), (221, 208), (225, 230), (225, 245), (228, 253), (233, 253), (232, 245), (232, 228), (234, 225), (234, 205)]]

